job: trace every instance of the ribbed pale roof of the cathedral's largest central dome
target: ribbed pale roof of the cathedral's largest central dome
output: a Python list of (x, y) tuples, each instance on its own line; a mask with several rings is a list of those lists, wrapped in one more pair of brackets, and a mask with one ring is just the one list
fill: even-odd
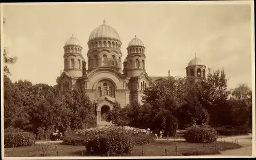
[(103, 21), (103, 24), (98, 26), (89, 37), (90, 40), (98, 39), (98, 38), (111, 38), (120, 41), (120, 37), (117, 31), (110, 25), (106, 25), (106, 21)]

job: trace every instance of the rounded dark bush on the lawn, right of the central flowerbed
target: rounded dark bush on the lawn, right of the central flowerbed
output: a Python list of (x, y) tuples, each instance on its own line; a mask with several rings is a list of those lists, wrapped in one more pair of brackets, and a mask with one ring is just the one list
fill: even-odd
[(217, 131), (207, 125), (194, 125), (186, 129), (184, 139), (191, 143), (214, 143), (217, 141)]

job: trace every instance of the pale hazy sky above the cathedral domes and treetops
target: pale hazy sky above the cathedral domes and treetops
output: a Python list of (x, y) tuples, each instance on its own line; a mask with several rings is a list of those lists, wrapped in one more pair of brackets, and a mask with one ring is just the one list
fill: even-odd
[(225, 68), (229, 88), (251, 87), (249, 5), (55, 4), (5, 5), (4, 46), (18, 61), (12, 81), (56, 84), (63, 70), (63, 45), (74, 34), (87, 59), (88, 38), (106, 20), (118, 32), (123, 53), (137, 36), (146, 47), (149, 76), (185, 76), (197, 57), (211, 69)]

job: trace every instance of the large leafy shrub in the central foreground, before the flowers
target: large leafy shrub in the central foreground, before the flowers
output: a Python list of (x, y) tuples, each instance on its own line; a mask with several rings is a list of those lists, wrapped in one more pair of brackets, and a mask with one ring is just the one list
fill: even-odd
[(110, 127), (104, 134), (88, 137), (86, 148), (89, 153), (97, 155), (129, 154), (134, 146), (133, 138), (124, 127)]

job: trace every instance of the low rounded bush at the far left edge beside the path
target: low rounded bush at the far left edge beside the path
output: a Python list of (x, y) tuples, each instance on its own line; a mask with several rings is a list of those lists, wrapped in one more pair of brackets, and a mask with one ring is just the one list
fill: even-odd
[(18, 128), (6, 128), (4, 130), (5, 147), (21, 147), (34, 144), (35, 135)]

